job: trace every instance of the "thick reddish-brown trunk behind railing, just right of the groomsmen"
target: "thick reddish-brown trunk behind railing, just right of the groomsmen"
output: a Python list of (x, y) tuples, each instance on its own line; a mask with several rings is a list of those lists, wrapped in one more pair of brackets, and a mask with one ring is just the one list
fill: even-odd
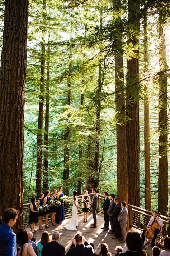
[[(128, 44), (139, 42), (139, 1), (128, 1), (128, 19), (131, 35)], [(138, 54), (138, 50), (134, 50)], [(138, 58), (127, 59), (127, 104), (126, 104), (126, 138), (127, 138), (127, 170), (128, 170), (128, 202), (140, 205), (139, 196), (139, 62)]]

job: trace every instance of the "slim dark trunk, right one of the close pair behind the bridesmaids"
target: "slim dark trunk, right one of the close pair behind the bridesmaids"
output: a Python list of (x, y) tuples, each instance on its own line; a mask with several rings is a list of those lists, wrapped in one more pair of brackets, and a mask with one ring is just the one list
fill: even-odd
[[(50, 37), (50, 33), (49, 33)], [(44, 163), (43, 163), (43, 190), (48, 189), (48, 129), (49, 129), (49, 79), (50, 79), (50, 45), (47, 46), (47, 81), (46, 81), (46, 113), (45, 113), (45, 134), (44, 134)]]

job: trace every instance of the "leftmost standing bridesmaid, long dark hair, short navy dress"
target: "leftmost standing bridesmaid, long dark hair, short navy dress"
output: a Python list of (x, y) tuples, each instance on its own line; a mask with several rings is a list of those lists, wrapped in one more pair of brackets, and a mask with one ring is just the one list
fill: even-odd
[(31, 198), (31, 204), (30, 204), (30, 213), (29, 213), (29, 225), (31, 228), (31, 231), (34, 233), (36, 232), (35, 225), (38, 223), (38, 211), (36, 211), (36, 198)]

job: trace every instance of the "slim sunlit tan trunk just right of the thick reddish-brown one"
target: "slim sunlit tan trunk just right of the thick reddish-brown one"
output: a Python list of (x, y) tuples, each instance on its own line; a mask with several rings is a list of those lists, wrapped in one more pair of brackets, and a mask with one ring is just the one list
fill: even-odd
[[(147, 11), (143, 17), (143, 48), (144, 48), (144, 72), (148, 72), (148, 39), (147, 39)], [(145, 209), (151, 211), (151, 175), (150, 175), (150, 136), (149, 136), (149, 88), (148, 81), (145, 84), (144, 94), (144, 156), (145, 156)]]

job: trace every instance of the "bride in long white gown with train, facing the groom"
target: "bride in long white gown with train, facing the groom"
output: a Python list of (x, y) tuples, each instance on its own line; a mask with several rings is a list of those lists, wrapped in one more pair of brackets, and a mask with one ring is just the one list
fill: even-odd
[(77, 230), (76, 229), (76, 227), (78, 226), (77, 211), (78, 211), (78, 208), (79, 208), (78, 198), (77, 198), (77, 191), (73, 192), (72, 201), (73, 201), (73, 206), (72, 206), (71, 222), (68, 225), (64, 226), (64, 227), (68, 230)]

